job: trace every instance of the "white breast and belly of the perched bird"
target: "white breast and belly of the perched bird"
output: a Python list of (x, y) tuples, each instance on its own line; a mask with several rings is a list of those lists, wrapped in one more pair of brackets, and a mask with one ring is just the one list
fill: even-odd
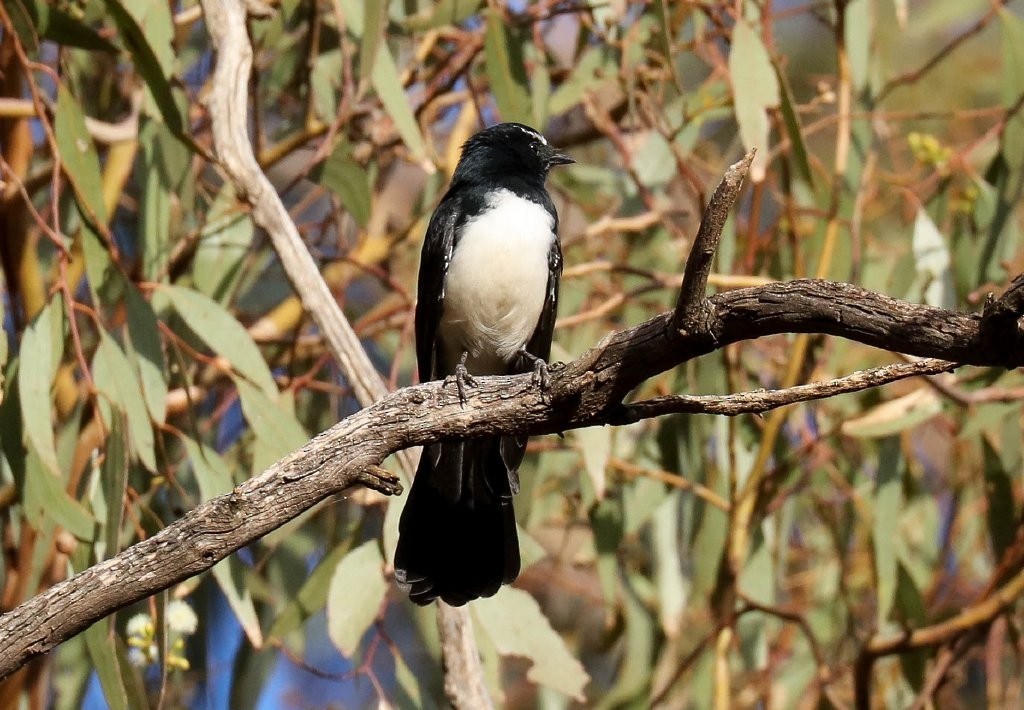
[(507, 190), (466, 223), (444, 281), (445, 369), (467, 351), (471, 373), (506, 372), (544, 307), (554, 226), (544, 207)]

